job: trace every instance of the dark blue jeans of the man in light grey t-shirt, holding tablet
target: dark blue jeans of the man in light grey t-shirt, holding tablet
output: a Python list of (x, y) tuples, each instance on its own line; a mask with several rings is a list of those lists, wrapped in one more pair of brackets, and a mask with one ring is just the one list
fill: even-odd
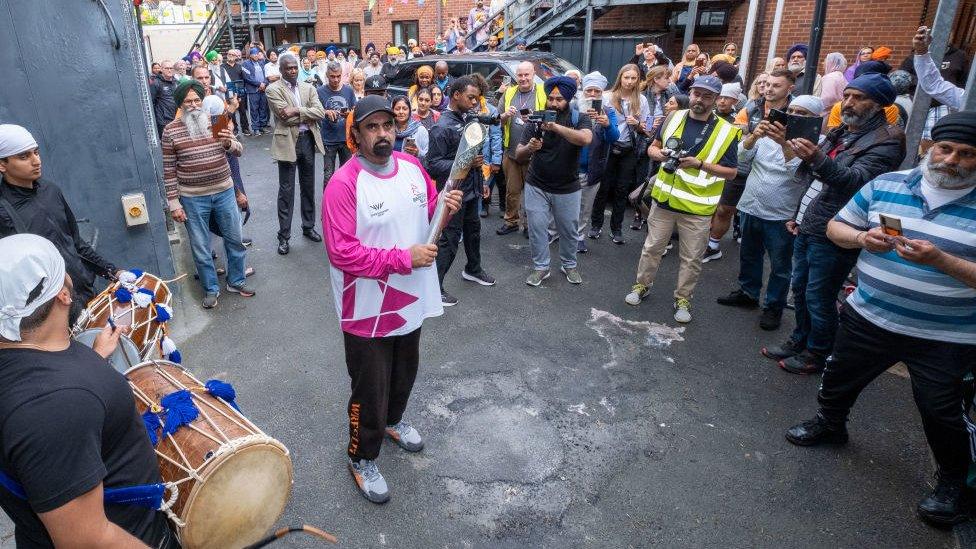
[(763, 255), (769, 254), (769, 280), (763, 308), (782, 311), (790, 292), (793, 273), (793, 234), (786, 221), (766, 221), (740, 212), (742, 246), (739, 248), (739, 287), (749, 297), (759, 300), (762, 292)]

